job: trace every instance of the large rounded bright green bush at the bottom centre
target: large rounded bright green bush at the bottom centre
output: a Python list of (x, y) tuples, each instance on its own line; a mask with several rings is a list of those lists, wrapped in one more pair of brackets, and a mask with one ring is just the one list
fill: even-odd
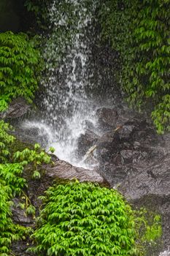
[(36, 255), (136, 255), (133, 213), (117, 191), (69, 182), (41, 198)]

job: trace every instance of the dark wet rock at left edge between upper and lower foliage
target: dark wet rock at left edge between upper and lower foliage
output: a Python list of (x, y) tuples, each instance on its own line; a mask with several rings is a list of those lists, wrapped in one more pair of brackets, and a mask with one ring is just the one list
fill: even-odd
[(9, 104), (7, 110), (0, 113), (0, 118), (20, 118), (25, 116), (30, 110), (31, 107), (26, 103), (26, 99), (19, 97)]

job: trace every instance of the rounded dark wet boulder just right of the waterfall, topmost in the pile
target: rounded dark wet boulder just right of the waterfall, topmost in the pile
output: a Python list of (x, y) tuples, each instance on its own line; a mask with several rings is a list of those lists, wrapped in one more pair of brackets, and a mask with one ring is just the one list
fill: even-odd
[(96, 111), (98, 116), (98, 124), (102, 129), (108, 130), (115, 127), (118, 118), (117, 110), (111, 108), (99, 108)]

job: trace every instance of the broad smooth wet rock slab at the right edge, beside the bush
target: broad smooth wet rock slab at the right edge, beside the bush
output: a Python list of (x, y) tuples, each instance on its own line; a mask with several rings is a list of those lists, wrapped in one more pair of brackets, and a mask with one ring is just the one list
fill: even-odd
[(157, 209), (163, 220), (163, 242), (170, 244), (170, 154), (160, 162), (143, 168), (134, 176), (126, 176), (120, 191), (136, 205)]

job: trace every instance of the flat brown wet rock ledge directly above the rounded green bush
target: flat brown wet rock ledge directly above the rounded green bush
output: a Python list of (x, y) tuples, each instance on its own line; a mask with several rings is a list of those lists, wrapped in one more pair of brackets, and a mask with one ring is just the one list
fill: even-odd
[(74, 167), (68, 162), (57, 160), (53, 165), (44, 165), (42, 167), (42, 178), (33, 180), (26, 172), (25, 178), (28, 180), (28, 197), (31, 198), (34, 206), (39, 207), (41, 203), (38, 198), (48, 187), (53, 184), (53, 181), (59, 180), (78, 180), (91, 181), (104, 184), (106, 181), (95, 170), (87, 170), (80, 167)]

